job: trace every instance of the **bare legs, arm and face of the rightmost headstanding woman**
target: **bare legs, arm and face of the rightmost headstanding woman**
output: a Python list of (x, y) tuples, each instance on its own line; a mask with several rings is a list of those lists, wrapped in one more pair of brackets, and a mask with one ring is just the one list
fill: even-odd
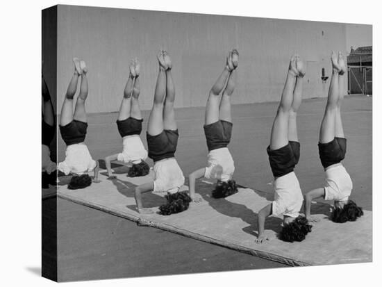
[[(338, 55), (332, 52), (331, 63), (333, 72), (331, 74), (325, 113), (322, 119), (321, 129), (319, 130), (319, 142), (321, 143), (331, 142), (335, 137), (344, 138), (344, 129), (341, 120), (341, 102), (345, 94), (347, 66), (341, 52), (339, 52)], [(310, 215), (310, 206), (313, 199), (323, 197), (325, 197), (324, 188), (317, 188), (306, 193), (305, 215), (308, 221), (319, 221)], [(340, 208), (342, 208), (344, 204), (346, 204), (346, 202), (335, 202), (335, 206)]]

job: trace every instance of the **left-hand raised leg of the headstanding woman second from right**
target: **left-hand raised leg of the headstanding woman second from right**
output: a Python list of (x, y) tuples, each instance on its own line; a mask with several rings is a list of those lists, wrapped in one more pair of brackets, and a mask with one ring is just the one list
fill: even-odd
[(274, 118), (270, 148), (279, 149), (285, 145), (288, 145), (288, 133), (289, 133), (289, 115), (293, 101), (293, 90), (296, 83), (297, 71), (297, 58), (292, 56), (288, 69), (287, 79), (285, 81), (283, 93), (281, 95), (280, 105), (277, 109), (276, 117)]

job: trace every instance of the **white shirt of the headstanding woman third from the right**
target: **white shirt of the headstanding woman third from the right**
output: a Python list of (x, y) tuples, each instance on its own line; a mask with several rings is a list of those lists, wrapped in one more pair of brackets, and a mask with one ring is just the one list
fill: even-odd
[(221, 181), (232, 179), (235, 164), (228, 148), (213, 149), (208, 153), (207, 162), (208, 166), (204, 172), (206, 179), (219, 179)]

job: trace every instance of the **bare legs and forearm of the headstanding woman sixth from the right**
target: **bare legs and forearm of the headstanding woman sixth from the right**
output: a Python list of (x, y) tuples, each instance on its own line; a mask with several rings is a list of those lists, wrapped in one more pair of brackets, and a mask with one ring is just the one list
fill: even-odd
[[(83, 60), (79, 60), (78, 58), (73, 58), (74, 63), (74, 73), (72, 79), (69, 82), (67, 87), (67, 92), (65, 95), (63, 107), (61, 108), (61, 118), (60, 118), (60, 126), (66, 126), (70, 124), (73, 120), (80, 122), (87, 122), (86, 111), (85, 111), (85, 101), (88, 97), (88, 67)], [(73, 101), (74, 95), (77, 91), (78, 79), (81, 76), (80, 83), (80, 92), (78, 94), (76, 100), (76, 107), (73, 111)], [(99, 172), (99, 163), (97, 161), (97, 166), (94, 167), (94, 182), (99, 182), (98, 180), (98, 172)]]

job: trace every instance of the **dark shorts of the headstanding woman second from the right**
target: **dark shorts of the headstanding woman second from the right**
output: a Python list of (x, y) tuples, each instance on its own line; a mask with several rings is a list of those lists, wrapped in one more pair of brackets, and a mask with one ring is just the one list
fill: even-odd
[(271, 150), (267, 147), (269, 164), (274, 177), (282, 177), (294, 170), (300, 159), (300, 143), (288, 142), (288, 145)]

